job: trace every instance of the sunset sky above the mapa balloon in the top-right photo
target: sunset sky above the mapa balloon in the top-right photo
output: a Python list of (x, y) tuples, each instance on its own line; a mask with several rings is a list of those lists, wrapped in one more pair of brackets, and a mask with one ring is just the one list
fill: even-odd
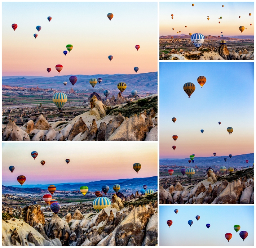
[[(181, 31), (185, 35), (189, 35), (189, 33), (212, 36), (223, 34), (224, 37), (254, 35), (253, 2), (193, 3), (194, 7), (192, 2), (160, 2), (160, 36), (177, 35), (177, 31)], [(223, 8), (222, 5), (224, 5)], [(171, 14), (173, 14), (173, 19), (171, 19)], [(207, 16), (209, 16), (209, 20), (207, 20)], [(185, 26), (187, 27), (185, 28)], [(240, 26), (244, 26), (247, 30), (241, 33)]]

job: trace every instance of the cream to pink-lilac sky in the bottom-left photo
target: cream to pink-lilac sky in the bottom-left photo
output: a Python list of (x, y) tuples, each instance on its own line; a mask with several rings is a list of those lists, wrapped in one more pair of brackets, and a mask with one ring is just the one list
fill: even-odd
[[(32, 151), (38, 153), (35, 160)], [(138, 174), (134, 163), (141, 164)], [(157, 176), (157, 164), (157, 143), (2, 143), (5, 186), (19, 185), (19, 175), (26, 177), (23, 186), (151, 177)], [(9, 166), (15, 167), (13, 173)]]

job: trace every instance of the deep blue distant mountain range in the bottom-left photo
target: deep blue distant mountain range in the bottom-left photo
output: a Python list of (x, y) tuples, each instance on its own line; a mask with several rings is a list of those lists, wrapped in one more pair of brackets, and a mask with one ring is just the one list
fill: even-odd
[[(54, 182), (53, 182), (54, 183)], [(62, 183), (54, 184), (56, 190), (74, 191), (79, 190), (81, 186), (88, 186), (89, 191), (101, 190), (103, 185), (109, 186), (109, 193), (114, 193), (112, 186), (119, 184), (121, 186), (121, 192), (123, 190), (140, 190), (142, 186), (146, 184), (149, 189), (157, 190), (158, 179), (157, 176), (144, 177), (144, 178), (132, 178), (132, 179), (118, 179), (118, 180), (101, 180), (95, 182), (76, 182), (76, 183)], [(25, 187), (26, 188), (25, 188)], [(47, 193), (49, 184), (45, 185), (23, 185), (21, 186), (3, 186), (2, 194), (7, 193)]]

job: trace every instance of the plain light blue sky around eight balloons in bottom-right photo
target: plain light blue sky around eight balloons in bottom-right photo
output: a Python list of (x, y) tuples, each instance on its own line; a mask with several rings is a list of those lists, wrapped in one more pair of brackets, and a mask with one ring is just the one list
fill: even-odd
[[(167, 220), (173, 221), (170, 227)], [(193, 221), (191, 227), (189, 220)], [(206, 224), (211, 225), (209, 229)], [(238, 233), (234, 225), (240, 225)], [(253, 246), (254, 206), (160, 206), (159, 226), (160, 246)], [(244, 242), (240, 231), (248, 233)], [(226, 233), (233, 235), (229, 242)]]

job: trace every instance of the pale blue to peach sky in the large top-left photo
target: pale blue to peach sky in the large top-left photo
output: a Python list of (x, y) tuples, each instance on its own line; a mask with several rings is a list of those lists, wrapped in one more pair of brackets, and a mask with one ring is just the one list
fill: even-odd
[[(114, 14), (111, 21), (108, 13)], [(146, 2), (2, 3), (2, 76), (132, 74), (134, 67), (137, 73), (155, 72), (157, 13), (157, 3)], [(73, 49), (65, 56), (67, 44)], [(57, 64), (63, 66), (60, 74)]]

